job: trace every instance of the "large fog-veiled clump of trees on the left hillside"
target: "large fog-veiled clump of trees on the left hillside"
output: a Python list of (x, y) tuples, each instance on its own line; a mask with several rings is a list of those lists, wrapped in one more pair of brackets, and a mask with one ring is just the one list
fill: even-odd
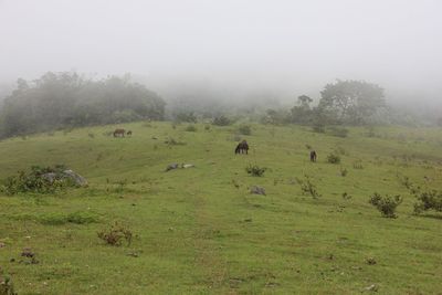
[(76, 73), (46, 73), (19, 80), (0, 112), (0, 137), (63, 127), (162, 119), (165, 101), (129, 76), (86, 80)]

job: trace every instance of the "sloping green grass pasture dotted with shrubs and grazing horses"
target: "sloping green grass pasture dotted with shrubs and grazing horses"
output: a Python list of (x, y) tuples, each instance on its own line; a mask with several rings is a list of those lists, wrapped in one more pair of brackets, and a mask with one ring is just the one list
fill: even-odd
[[(415, 199), (398, 177), (442, 189), (441, 129), (379, 127), (369, 137), (351, 128), (340, 138), (252, 125), (243, 136), (250, 154), (235, 156), (235, 126), (196, 126), (135, 123), (0, 141), (1, 179), (65, 164), (90, 182), (55, 194), (0, 194), (0, 267), (15, 291), (359, 294), (376, 285), (377, 294), (442, 294), (442, 214), (414, 215)], [(105, 135), (115, 127), (134, 135)], [(186, 145), (165, 144), (170, 138)], [(327, 162), (330, 152), (339, 165)], [(196, 167), (165, 172), (171, 162)], [(269, 170), (249, 176), (250, 164)], [(322, 197), (302, 193), (305, 175)], [(266, 196), (251, 194), (251, 186)], [(368, 203), (373, 192), (403, 197), (397, 219)], [(97, 238), (114, 222), (136, 235), (130, 245)], [(24, 247), (39, 263), (20, 256)]]

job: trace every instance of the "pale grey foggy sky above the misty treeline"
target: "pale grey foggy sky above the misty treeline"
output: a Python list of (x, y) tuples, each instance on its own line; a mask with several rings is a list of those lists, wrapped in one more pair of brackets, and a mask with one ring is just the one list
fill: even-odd
[(0, 0), (0, 84), (130, 72), (302, 94), (354, 78), (435, 102), (441, 14), (438, 0)]

